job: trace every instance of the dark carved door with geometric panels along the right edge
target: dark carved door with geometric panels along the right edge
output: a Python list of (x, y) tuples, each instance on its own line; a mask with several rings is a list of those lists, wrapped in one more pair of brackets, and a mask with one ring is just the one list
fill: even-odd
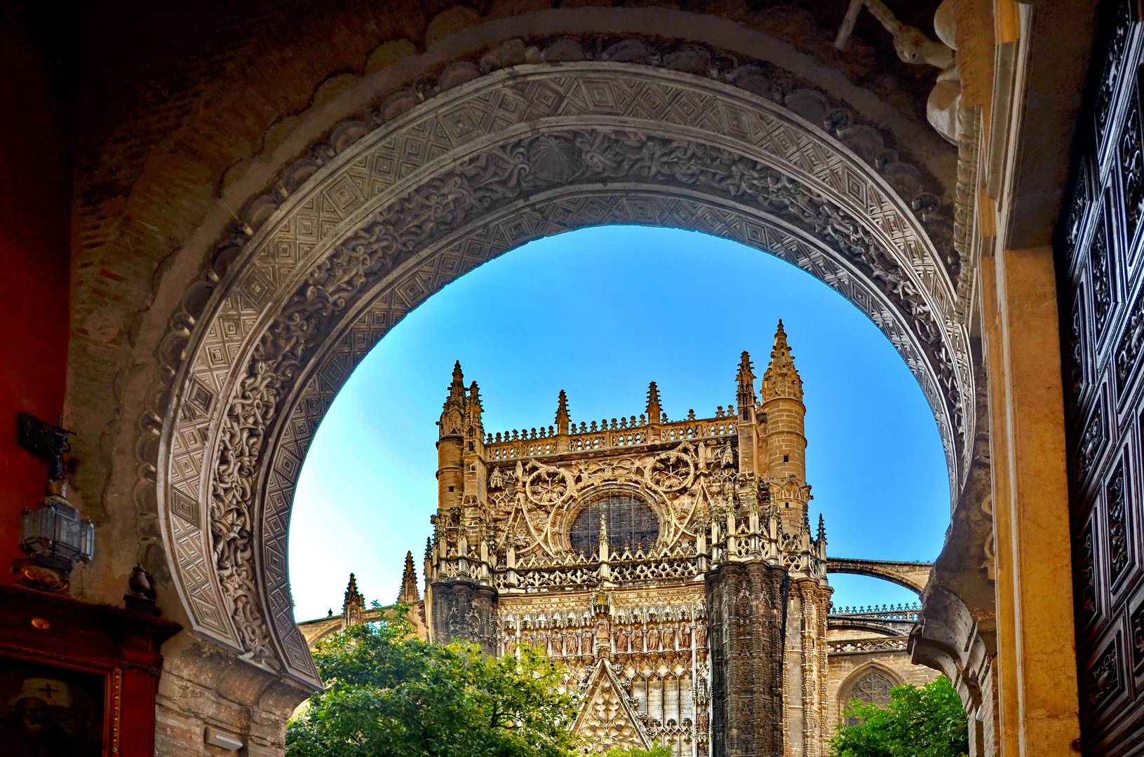
[(1144, 30), (1101, 9), (1059, 225), (1081, 750), (1144, 755)]

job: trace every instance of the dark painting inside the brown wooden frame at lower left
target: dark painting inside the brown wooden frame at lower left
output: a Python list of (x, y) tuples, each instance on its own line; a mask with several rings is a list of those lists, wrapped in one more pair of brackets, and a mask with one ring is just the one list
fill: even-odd
[(105, 676), (0, 658), (0, 744), (8, 757), (101, 757)]

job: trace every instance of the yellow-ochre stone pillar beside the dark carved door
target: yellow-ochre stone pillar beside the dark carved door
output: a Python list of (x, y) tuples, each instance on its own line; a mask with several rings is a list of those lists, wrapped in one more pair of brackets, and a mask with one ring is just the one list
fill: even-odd
[(1001, 754), (1065, 757), (1080, 726), (1052, 249), (1006, 250), (982, 271)]

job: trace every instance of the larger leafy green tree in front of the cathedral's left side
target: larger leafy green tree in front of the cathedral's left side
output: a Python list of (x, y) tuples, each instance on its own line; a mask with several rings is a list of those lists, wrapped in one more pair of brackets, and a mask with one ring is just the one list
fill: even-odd
[(545, 655), (422, 642), (398, 611), (323, 640), (326, 688), (286, 728), (288, 757), (572, 757), (575, 702)]

